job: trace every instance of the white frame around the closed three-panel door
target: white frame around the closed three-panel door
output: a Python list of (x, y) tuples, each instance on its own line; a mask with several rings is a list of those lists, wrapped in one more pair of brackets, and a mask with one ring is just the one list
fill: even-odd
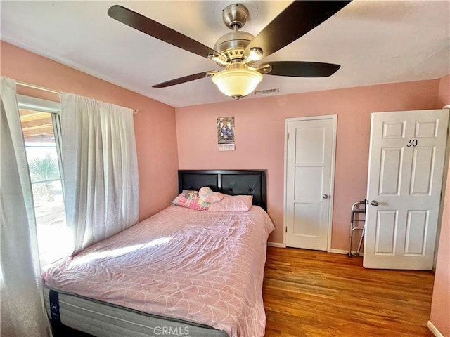
[(327, 244), (326, 251), (331, 251), (331, 232), (333, 229), (333, 200), (334, 200), (334, 187), (335, 187), (335, 159), (336, 159), (336, 143), (338, 136), (338, 114), (327, 114), (321, 116), (310, 116), (310, 117), (293, 117), (286, 118), (284, 123), (284, 180), (283, 180), (283, 247), (286, 247), (286, 230), (287, 230), (287, 219), (286, 211), (288, 207), (288, 124), (290, 121), (311, 121), (317, 119), (332, 119), (333, 120), (333, 144), (331, 145), (331, 169), (330, 169), (330, 202), (328, 214), (328, 234), (327, 234)]

